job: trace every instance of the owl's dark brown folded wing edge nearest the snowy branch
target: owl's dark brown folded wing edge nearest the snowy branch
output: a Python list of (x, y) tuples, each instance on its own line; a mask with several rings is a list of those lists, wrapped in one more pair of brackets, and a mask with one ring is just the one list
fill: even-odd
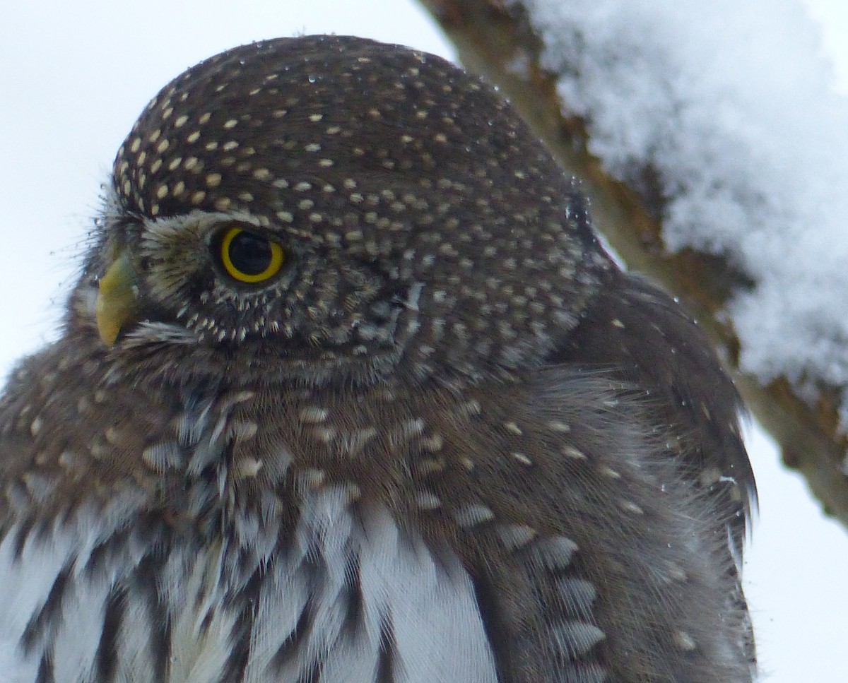
[(708, 491), (741, 553), (756, 484), (739, 432), (744, 408), (695, 320), (656, 286), (616, 271), (552, 360), (637, 387), (683, 477)]

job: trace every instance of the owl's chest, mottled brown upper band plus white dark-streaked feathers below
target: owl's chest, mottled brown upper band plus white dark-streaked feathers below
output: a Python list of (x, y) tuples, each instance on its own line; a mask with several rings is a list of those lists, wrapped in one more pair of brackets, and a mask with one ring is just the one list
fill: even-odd
[(0, 683), (497, 680), (466, 568), (389, 500), (430, 425), (373, 401), (173, 405), (156, 430), (114, 406), (102, 456), (131, 471), (0, 537)]

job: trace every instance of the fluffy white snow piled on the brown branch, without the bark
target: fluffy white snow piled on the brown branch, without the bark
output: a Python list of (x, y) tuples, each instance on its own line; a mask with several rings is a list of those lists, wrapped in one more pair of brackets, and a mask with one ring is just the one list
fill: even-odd
[(729, 307), (742, 369), (848, 383), (848, 102), (805, 6), (522, 4), (589, 151), (634, 186), (656, 175), (667, 247), (721, 254), (756, 282)]

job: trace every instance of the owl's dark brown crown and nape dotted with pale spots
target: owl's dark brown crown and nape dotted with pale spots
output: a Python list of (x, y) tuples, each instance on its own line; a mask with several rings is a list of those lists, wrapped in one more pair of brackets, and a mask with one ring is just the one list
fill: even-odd
[[(355, 288), (376, 275), (381, 305), (405, 309), (418, 375), (540, 360), (609, 269), (572, 180), (492, 88), (362, 39), (282, 38), (189, 69), (138, 119), (114, 186), (127, 214), (246, 214), (365, 266)], [(329, 289), (301, 296), (332, 308), (336, 347), (406, 344)]]

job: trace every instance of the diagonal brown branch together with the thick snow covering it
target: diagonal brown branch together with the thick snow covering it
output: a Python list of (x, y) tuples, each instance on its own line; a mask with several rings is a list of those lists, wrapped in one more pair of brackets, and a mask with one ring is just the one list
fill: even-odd
[(799, 0), (423, 0), (848, 521), (848, 102)]

